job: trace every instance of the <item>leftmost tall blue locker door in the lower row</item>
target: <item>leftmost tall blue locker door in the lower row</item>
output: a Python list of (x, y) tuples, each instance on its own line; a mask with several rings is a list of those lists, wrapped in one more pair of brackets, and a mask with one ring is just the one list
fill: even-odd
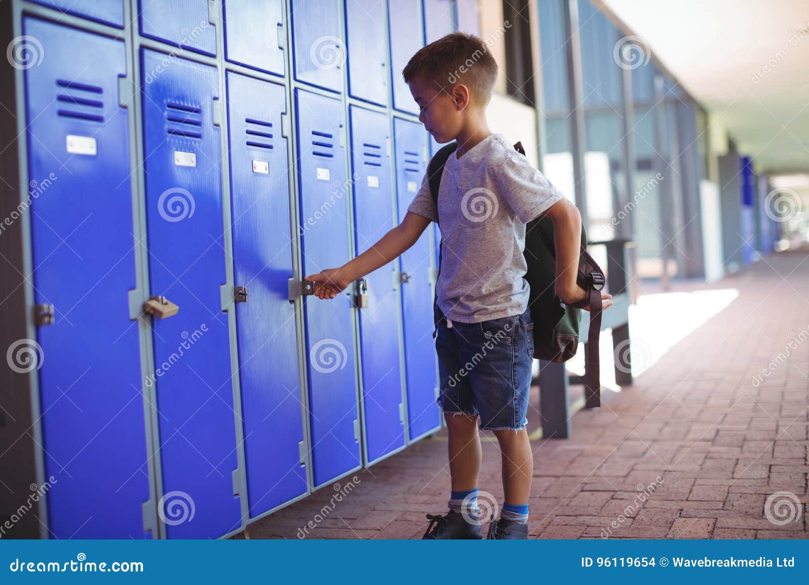
[(44, 474), (56, 480), (48, 528), (56, 538), (151, 537), (140, 342), (129, 320), (124, 43), (31, 18), (23, 31), (47, 55), (25, 71), (25, 108), (34, 302), (53, 305), (53, 324), (36, 329)]

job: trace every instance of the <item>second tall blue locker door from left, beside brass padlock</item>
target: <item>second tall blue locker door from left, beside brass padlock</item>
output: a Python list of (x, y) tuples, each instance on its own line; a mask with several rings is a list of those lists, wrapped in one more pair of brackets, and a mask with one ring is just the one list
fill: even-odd
[[(144, 76), (165, 58), (141, 49)], [(231, 473), (237, 467), (230, 343), (222, 312), (225, 252), (218, 77), (175, 58), (143, 83), (143, 159), (152, 295), (180, 307), (152, 320), (164, 511), (171, 538), (206, 538), (241, 525)], [(232, 295), (232, 291), (231, 291)], [(190, 500), (191, 522), (170, 515)]]

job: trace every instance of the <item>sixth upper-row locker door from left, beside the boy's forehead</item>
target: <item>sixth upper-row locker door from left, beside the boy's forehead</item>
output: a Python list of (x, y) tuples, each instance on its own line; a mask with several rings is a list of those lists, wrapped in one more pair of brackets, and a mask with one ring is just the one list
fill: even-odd
[(418, 114), (418, 106), (402, 78), (402, 70), (413, 53), (424, 46), (421, 28), (421, 0), (389, 0), (388, 31), (391, 35), (393, 107)]

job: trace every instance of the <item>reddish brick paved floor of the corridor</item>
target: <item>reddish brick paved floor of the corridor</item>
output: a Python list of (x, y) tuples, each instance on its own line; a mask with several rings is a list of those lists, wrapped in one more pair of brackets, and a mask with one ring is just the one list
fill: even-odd
[[(720, 282), (676, 284), (739, 296), (632, 387), (604, 390), (601, 408), (575, 413), (571, 439), (532, 442), (533, 537), (809, 538), (807, 256), (782, 252)], [(655, 345), (649, 335), (665, 337), (650, 322), (635, 327), (647, 336), (635, 339), (638, 359)], [(501, 501), (498, 446), (484, 439), (480, 489)], [(425, 513), (446, 509), (446, 451), (440, 433), (357, 473), (353, 492), (306, 537), (420, 537)], [(776, 492), (790, 494), (765, 510)], [(334, 493), (327, 486), (236, 537), (300, 537)]]

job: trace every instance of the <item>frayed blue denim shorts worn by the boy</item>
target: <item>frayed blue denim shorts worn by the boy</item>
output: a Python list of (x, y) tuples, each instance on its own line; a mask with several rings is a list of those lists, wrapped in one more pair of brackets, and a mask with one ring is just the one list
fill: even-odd
[(445, 413), (480, 417), (483, 430), (525, 428), (534, 361), (531, 312), (448, 327), (441, 310), (434, 311), (438, 405)]

